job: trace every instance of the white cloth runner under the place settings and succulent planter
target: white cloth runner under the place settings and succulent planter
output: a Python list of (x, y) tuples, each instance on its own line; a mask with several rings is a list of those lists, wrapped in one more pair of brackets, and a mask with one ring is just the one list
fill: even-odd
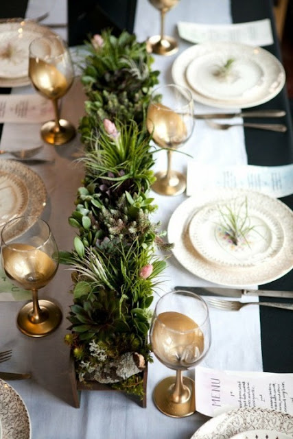
[[(51, 3), (44, 2), (47, 6)], [(28, 9), (29, 16), (37, 16), (40, 9), (39, 2), (32, 1)], [(53, 1), (51, 16), (48, 22), (66, 20), (66, 1)], [(45, 7), (44, 7), (45, 9)], [(55, 11), (55, 12), (54, 12)], [(45, 12), (45, 11), (44, 11)], [(230, 23), (230, 4), (228, 0), (183, 0), (178, 3), (174, 10), (166, 15), (166, 33), (176, 35), (178, 20), (197, 21), (199, 23)], [(136, 17), (137, 36), (144, 40), (150, 34), (159, 32), (159, 12), (156, 11), (146, 0), (139, 0)], [(188, 47), (187, 43), (180, 40), (180, 51)], [(154, 68), (161, 70), (161, 84), (172, 82), (170, 68), (174, 57), (155, 57)], [(19, 88), (13, 93), (34, 93), (31, 87)], [(62, 113), (68, 119), (78, 124), (78, 119), (83, 112), (83, 95), (78, 82), (62, 103)], [(200, 108), (201, 107), (201, 108)], [(197, 106), (197, 110), (204, 110)], [(19, 137), (25, 145), (30, 141), (36, 141), (39, 135), (39, 126), (19, 126), (5, 124), (1, 138), (1, 144), (9, 143), (10, 139)], [(222, 137), (222, 139), (220, 139)], [(219, 142), (221, 147), (219, 147)], [(237, 145), (237, 147), (235, 147)], [(76, 192), (81, 185), (83, 176), (82, 165), (73, 163), (75, 154), (81, 147), (79, 138), (68, 145), (51, 147), (46, 145), (47, 154), (55, 158), (54, 164), (34, 166), (33, 169), (43, 178), (48, 192), (48, 203), (43, 213), (58, 241), (60, 249), (70, 250), (73, 245), (75, 230), (67, 223), (74, 209)], [(198, 121), (193, 137), (185, 146), (186, 152), (191, 153), (202, 163), (227, 164), (227, 158), (231, 164), (245, 164), (246, 152), (244, 145), (244, 133), (242, 130), (231, 132), (213, 132), (208, 129), (204, 122)], [(159, 153), (156, 167), (165, 167), (165, 152)], [(176, 169), (186, 170), (187, 157), (178, 154), (174, 161)], [(176, 206), (183, 200), (185, 195), (167, 198), (155, 195), (159, 204), (159, 211), (154, 216), (154, 221), (161, 219), (162, 228), (167, 227), (169, 216)], [(172, 289), (174, 285), (209, 285), (196, 276), (189, 274), (174, 258), (169, 259), (169, 267), (164, 273), (163, 290)], [(95, 439), (95, 438), (168, 438), (188, 439), (201, 425), (204, 416), (194, 414), (189, 418), (169, 418), (154, 407), (152, 402), (152, 390), (154, 385), (170, 371), (161, 365), (159, 361), (151, 364), (148, 372), (148, 408), (143, 410), (139, 405), (130, 401), (124, 394), (117, 392), (91, 392), (83, 391), (81, 407), (73, 407), (73, 390), (69, 381), (69, 349), (63, 341), (69, 322), (66, 315), (72, 304), (72, 296), (69, 294), (71, 287), (70, 272), (61, 266), (56, 278), (40, 292), (40, 297), (54, 298), (64, 313), (61, 327), (55, 333), (43, 339), (25, 337), (16, 328), (15, 318), (21, 307), (21, 302), (1, 302), (0, 304), (0, 347), (13, 346), (13, 357), (9, 363), (2, 364), (1, 370), (31, 371), (32, 379), (29, 381), (13, 381), (10, 384), (21, 394), (30, 412), (32, 421), (32, 439)], [(228, 321), (224, 320), (224, 314), (215, 312), (211, 314), (213, 327), (213, 345), (205, 366), (215, 368), (230, 368), (233, 370), (261, 370), (261, 350), (259, 337), (258, 311), (246, 314), (235, 313)], [(232, 326), (229, 326), (229, 325)], [(241, 325), (246, 331), (246, 338), (239, 338), (237, 331), (231, 328)], [(234, 326), (233, 326), (234, 325)], [(226, 344), (225, 337), (221, 332), (223, 327), (228, 329), (230, 344)], [(220, 331), (220, 328), (221, 331)], [(245, 331), (242, 331), (244, 334)], [(250, 340), (251, 338), (251, 340)], [(254, 343), (253, 340), (257, 340)], [(253, 343), (250, 355), (246, 355), (246, 347)], [(221, 357), (219, 357), (220, 347)], [(234, 346), (231, 355), (231, 346)], [(242, 350), (243, 347), (243, 350)], [(192, 372), (191, 372), (192, 373)]]

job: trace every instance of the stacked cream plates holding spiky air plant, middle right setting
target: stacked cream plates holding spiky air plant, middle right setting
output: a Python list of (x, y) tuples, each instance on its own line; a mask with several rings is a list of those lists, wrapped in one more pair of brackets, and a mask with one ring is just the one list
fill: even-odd
[[(222, 227), (228, 209), (250, 229), (237, 245)], [(216, 189), (180, 204), (167, 233), (174, 257), (196, 276), (226, 286), (260, 285), (292, 269), (292, 224), (293, 212), (280, 200), (243, 189)]]

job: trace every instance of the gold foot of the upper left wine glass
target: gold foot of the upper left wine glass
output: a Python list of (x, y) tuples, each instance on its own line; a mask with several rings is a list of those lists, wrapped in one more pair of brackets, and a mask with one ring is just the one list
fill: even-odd
[(51, 145), (64, 145), (75, 137), (76, 131), (74, 126), (65, 119), (59, 119), (60, 131), (56, 132), (55, 121), (45, 122), (42, 128), (40, 128), (40, 135), (43, 141), (50, 143)]

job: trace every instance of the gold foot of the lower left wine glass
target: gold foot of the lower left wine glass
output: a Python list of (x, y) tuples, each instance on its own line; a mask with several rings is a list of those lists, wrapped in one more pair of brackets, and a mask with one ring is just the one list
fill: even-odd
[(47, 318), (40, 323), (32, 323), (30, 314), (33, 310), (32, 302), (27, 303), (19, 311), (17, 316), (17, 327), (29, 337), (45, 337), (58, 328), (62, 320), (62, 313), (57, 305), (50, 300), (38, 300), (38, 305), (42, 311), (47, 313)]

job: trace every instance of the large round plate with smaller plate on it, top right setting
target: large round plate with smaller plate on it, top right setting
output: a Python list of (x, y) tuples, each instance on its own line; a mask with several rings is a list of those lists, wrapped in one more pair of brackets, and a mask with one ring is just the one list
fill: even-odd
[[(235, 59), (235, 84), (216, 78), (210, 69)], [(242, 61), (241, 61), (242, 60)], [(244, 73), (248, 74), (245, 80)], [(248, 108), (270, 101), (285, 84), (285, 70), (275, 56), (261, 47), (239, 43), (202, 43), (186, 49), (172, 65), (175, 84), (187, 86), (197, 102), (218, 108)], [(190, 83), (189, 83), (190, 82)], [(216, 86), (218, 82), (218, 86)], [(226, 95), (226, 97), (225, 97)]]

